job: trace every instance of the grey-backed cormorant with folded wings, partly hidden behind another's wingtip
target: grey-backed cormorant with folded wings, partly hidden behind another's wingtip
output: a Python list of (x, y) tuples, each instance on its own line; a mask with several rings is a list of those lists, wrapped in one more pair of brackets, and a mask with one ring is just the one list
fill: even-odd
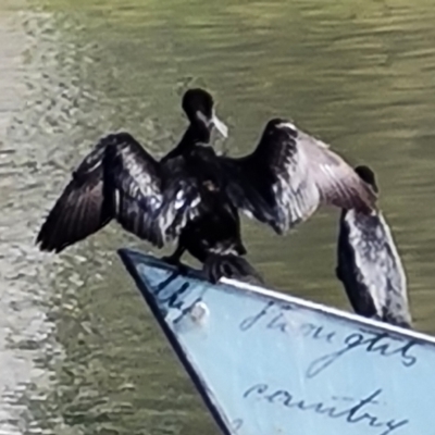
[[(369, 167), (356, 172), (377, 191)], [(381, 211), (341, 211), (336, 275), (356, 313), (411, 327), (403, 266)]]

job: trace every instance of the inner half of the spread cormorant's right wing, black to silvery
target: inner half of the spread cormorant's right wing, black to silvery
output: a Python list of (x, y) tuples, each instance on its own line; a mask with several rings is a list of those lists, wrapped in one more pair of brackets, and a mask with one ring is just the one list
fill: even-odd
[(299, 152), (297, 132), (269, 124), (257, 149), (241, 159), (221, 158), (232, 201), (246, 214), (283, 234), (309, 216), (320, 201), (307, 176), (307, 162)]

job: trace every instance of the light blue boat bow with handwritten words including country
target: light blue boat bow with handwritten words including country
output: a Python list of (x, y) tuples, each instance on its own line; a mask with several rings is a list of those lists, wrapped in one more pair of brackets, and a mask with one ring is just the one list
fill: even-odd
[(123, 249), (224, 434), (435, 435), (435, 339)]

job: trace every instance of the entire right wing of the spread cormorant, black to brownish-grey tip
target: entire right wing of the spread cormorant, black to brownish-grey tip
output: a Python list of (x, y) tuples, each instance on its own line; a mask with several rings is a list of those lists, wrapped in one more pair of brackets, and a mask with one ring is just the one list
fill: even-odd
[(338, 154), (286, 120), (271, 120), (249, 156), (221, 157), (232, 202), (283, 234), (322, 203), (370, 212), (376, 195)]

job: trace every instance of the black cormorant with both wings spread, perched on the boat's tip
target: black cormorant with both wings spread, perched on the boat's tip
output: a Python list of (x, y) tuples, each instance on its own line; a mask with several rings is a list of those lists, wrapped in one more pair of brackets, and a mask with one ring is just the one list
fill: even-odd
[(246, 253), (237, 209), (283, 234), (322, 202), (373, 207), (372, 190), (350, 166), (293, 124), (270, 121), (257, 149), (234, 159), (203, 145), (213, 125), (225, 133), (211, 96), (188, 91), (183, 107), (190, 126), (160, 162), (129, 134), (101, 139), (44, 223), (40, 249), (59, 252), (115, 219), (157, 247), (178, 239), (166, 259), (173, 263), (186, 249), (201, 262), (209, 254), (227, 254), (229, 261)]

